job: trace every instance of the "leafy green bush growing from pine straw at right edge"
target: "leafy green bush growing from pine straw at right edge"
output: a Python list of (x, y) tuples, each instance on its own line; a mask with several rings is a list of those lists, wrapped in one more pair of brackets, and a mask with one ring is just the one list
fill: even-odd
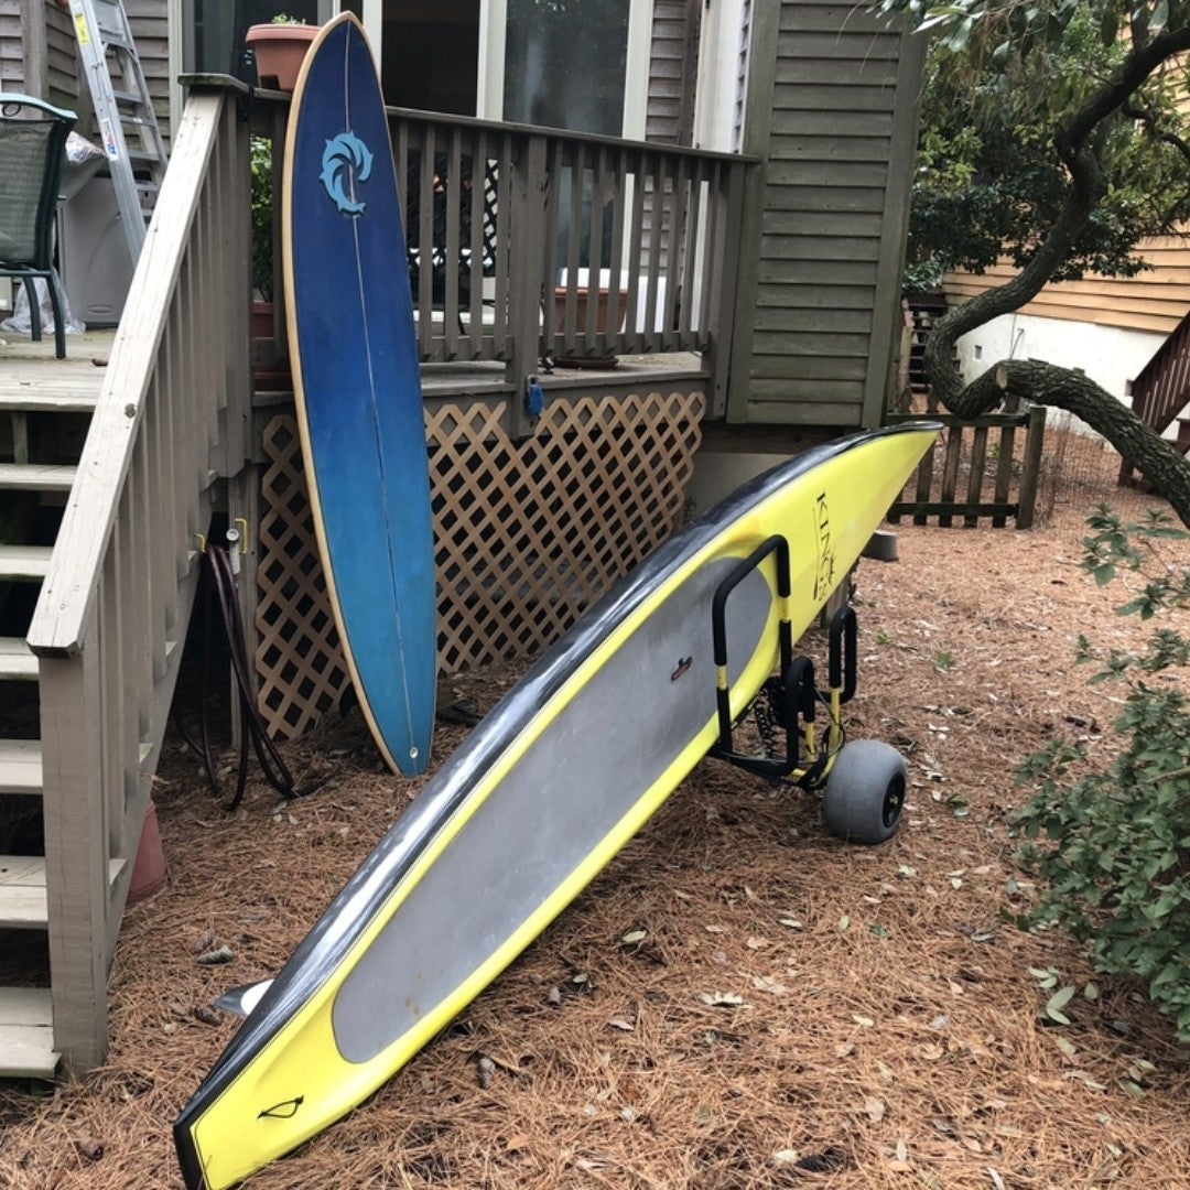
[[(1101, 585), (1121, 570), (1142, 583), (1119, 614), (1190, 608), (1190, 569), (1161, 557), (1163, 541), (1186, 537), (1169, 518), (1123, 524), (1101, 505), (1088, 526), (1083, 569)], [(1171, 672), (1190, 664), (1190, 639), (1164, 624), (1132, 654), (1081, 637), (1077, 657), (1097, 664), (1091, 683), (1123, 685), (1122, 709), (1102, 766), (1084, 744), (1054, 738), (1017, 769), (1034, 788), (1015, 815), (1027, 839), (1019, 858), (1044, 882), (1022, 923), (1054, 925), (1090, 947), (1100, 971), (1147, 981), (1190, 1041), (1190, 702)]]

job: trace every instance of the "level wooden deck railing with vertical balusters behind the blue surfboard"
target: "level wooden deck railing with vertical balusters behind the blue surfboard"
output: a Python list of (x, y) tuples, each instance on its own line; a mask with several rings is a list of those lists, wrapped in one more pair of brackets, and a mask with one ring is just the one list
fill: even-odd
[[(276, 195), (288, 96), (253, 102)], [(424, 362), (501, 361), (518, 392), (541, 359), (694, 351), (721, 392), (751, 159), (400, 108), (389, 127)]]

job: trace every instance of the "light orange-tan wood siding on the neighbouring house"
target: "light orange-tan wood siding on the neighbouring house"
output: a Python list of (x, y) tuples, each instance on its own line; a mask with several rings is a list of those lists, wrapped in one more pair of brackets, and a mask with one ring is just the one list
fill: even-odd
[[(1046, 286), (1021, 313), (1170, 334), (1190, 309), (1190, 239), (1166, 236), (1145, 240), (1140, 255), (1152, 269), (1135, 277), (1084, 277)], [(981, 276), (951, 274), (942, 289), (951, 302), (963, 302), (1013, 276), (1015, 270), (1004, 263)]]

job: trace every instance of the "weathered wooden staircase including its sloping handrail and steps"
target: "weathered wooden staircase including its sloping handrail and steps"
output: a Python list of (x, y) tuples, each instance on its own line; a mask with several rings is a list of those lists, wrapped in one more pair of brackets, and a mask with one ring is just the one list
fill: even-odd
[(194, 544), (255, 507), (231, 92), (190, 92), (169, 173), (118, 332), (0, 344), (0, 1078), (104, 1061)]

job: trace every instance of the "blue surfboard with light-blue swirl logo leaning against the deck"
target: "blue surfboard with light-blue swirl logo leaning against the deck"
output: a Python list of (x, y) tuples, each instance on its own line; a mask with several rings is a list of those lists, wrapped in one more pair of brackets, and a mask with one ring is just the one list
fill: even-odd
[(282, 244), (298, 425), (343, 652), (384, 760), (422, 772), (437, 638), (421, 378), (384, 101), (350, 13), (320, 31), (294, 90)]

